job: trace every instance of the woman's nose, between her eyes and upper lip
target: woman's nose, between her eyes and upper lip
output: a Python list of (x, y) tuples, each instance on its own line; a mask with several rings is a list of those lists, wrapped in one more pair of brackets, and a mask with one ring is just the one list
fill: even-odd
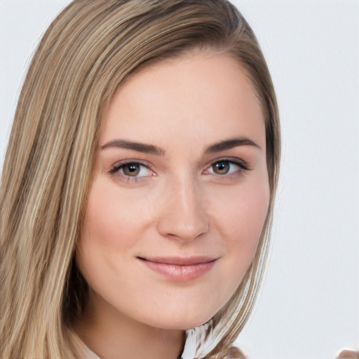
[(162, 203), (158, 219), (158, 232), (162, 236), (190, 242), (208, 232), (203, 191), (190, 176), (168, 184)]

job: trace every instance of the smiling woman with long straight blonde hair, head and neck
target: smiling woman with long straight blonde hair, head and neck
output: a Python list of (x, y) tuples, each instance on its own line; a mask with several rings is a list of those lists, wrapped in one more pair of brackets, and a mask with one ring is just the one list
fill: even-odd
[(73, 1), (1, 181), (2, 358), (224, 358), (266, 260), (280, 134), (227, 1)]

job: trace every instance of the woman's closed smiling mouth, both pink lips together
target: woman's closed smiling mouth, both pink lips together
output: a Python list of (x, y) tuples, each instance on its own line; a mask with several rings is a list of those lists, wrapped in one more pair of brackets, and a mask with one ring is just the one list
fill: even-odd
[(204, 276), (219, 258), (210, 257), (151, 257), (137, 259), (148, 269), (175, 282), (189, 282)]

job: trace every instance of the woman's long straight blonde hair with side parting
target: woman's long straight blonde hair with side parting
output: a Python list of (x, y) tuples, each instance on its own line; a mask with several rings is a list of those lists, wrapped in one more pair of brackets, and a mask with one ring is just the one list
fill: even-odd
[(266, 262), (280, 131), (257, 39), (226, 0), (75, 0), (36, 50), (18, 102), (1, 178), (1, 358), (79, 358), (72, 321), (86, 303), (76, 269), (86, 196), (104, 113), (126, 77), (194, 48), (224, 51), (262, 104), (271, 198), (255, 260), (211, 320), (205, 358), (223, 358), (248, 319)]

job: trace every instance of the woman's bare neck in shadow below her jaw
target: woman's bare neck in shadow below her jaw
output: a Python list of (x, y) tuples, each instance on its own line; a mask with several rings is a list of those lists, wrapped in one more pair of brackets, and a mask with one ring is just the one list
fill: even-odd
[(183, 330), (140, 323), (94, 293), (74, 330), (101, 359), (176, 359), (184, 346)]

